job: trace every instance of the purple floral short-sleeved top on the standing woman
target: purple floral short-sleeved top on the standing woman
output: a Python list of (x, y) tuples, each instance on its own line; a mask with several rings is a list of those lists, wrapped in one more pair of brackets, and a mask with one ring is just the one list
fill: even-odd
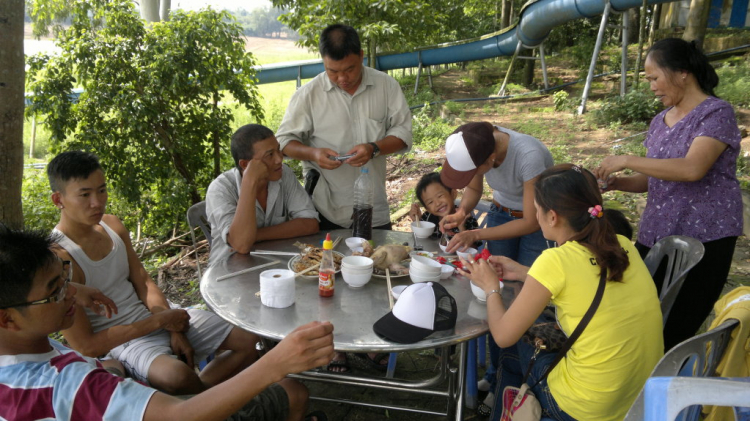
[(686, 235), (705, 243), (742, 234), (742, 196), (737, 181), (740, 135), (732, 106), (708, 97), (674, 126), (662, 111), (652, 121), (643, 145), (648, 158), (682, 158), (696, 137), (708, 136), (727, 148), (699, 181), (648, 178), (648, 201), (638, 242), (652, 247), (668, 235)]

